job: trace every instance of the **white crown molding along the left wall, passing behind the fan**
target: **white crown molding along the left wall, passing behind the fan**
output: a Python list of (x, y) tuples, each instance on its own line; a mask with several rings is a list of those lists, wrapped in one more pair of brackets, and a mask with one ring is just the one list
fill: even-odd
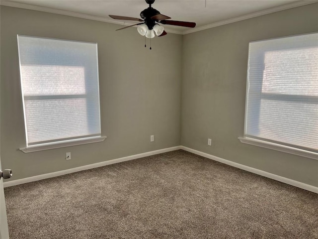
[[(89, 14), (84, 14), (84, 13), (79, 13), (74, 11), (66, 11), (66, 10), (55, 9), (51, 7), (45, 7), (45, 6), (36, 6), (36, 5), (30, 5), (30, 4), (14, 2), (14, 1), (0, 0), (0, 5), (23, 8), (28, 10), (35, 10), (35, 11), (44, 11), (49, 13), (79, 17), (79, 18), (84, 18), (88, 20), (102, 21), (102, 22), (113, 23), (113, 24), (124, 25), (124, 26), (129, 26), (133, 24), (133, 22), (117, 21), (115, 19), (108, 18), (108, 17), (94, 16), (94, 15), (89, 15)], [(134, 27), (137, 27), (137, 26), (134, 26)], [(167, 27), (164, 27), (164, 30), (168, 33), (182, 34), (182, 31), (169, 29)]]

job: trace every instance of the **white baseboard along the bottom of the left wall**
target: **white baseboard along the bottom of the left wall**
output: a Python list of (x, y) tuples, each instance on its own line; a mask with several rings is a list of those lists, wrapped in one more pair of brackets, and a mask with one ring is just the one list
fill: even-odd
[(46, 174), (41, 174), (41, 175), (37, 175), (37, 176), (33, 176), (33, 177), (12, 180), (12, 181), (8, 181), (8, 182), (4, 182), (3, 187), (11, 187), (11, 186), (15, 186), (15, 185), (23, 184), (23, 183), (30, 183), (30, 182), (34, 182), (34, 181), (38, 181), (38, 180), (42, 180), (42, 179), (53, 178), (53, 177), (62, 176), (62, 175), (69, 174), (69, 173), (75, 173), (75, 172), (79, 172), (79, 171), (83, 171), (83, 170), (87, 170), (87, 169), (98, 168), (98, 167), (102, 167), (102, 166), (106, 166), (106, 165), (110, 165), (110, 164), (114, 164), (114, 163), (120, 163), (120, 162), (129, 161), (129, 160), (133, 160), (133, 159), (137, 159), (137, 158), (143, 158), (143, 157), (156, 155), (159, 153), (170, 152), (170, 151), (174, 151), (174, 150), (178, 150), (178, 149), (181, 149), (181, 146), (163, 148), (163, 149), (145, 152), (145, 153), (140, 153), (140, 154), (135, 154), (135, 155), (127, 156), (127, 157), (116, 158), (116, 159), (103, 161), (103, 162), (99, 162), (99, 163), (93, 163), (93, 164), (89, 164), (89, 165), (85, 165), (85, 166), (81, 166), (81, 167), (70, 168), (70, 169), (66, 169), (66, 170), (62, 170), (62, 171), (58, 171), (58, 172), (46, 173)]

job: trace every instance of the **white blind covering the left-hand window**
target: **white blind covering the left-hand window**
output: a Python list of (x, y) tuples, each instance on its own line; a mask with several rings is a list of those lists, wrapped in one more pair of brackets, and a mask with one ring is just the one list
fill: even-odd
[(27, 146), (100, 136), (97, 43), (17, 38)]

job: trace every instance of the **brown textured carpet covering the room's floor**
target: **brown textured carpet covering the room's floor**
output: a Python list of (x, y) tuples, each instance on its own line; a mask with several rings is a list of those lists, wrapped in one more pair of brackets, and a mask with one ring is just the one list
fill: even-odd
[(182, 150), (5, 188), (10, 239), (318, 239), (318, 194)]

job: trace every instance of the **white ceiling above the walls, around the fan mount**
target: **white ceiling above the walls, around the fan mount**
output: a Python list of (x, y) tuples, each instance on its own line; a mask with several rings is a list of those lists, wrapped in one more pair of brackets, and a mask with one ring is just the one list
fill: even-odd
[[(316, 0), (156, 0), (152, 7), (171, 20), (196, 22), (193, 29), (164, 26), (168, 32), (186, 34), (312, 2)], [(140, 12), (149, 6), (145, 0), (1, 0), (0, 3), (123, 25), (137, 22), (114, 20), (108, 15), (140, 18)]]

